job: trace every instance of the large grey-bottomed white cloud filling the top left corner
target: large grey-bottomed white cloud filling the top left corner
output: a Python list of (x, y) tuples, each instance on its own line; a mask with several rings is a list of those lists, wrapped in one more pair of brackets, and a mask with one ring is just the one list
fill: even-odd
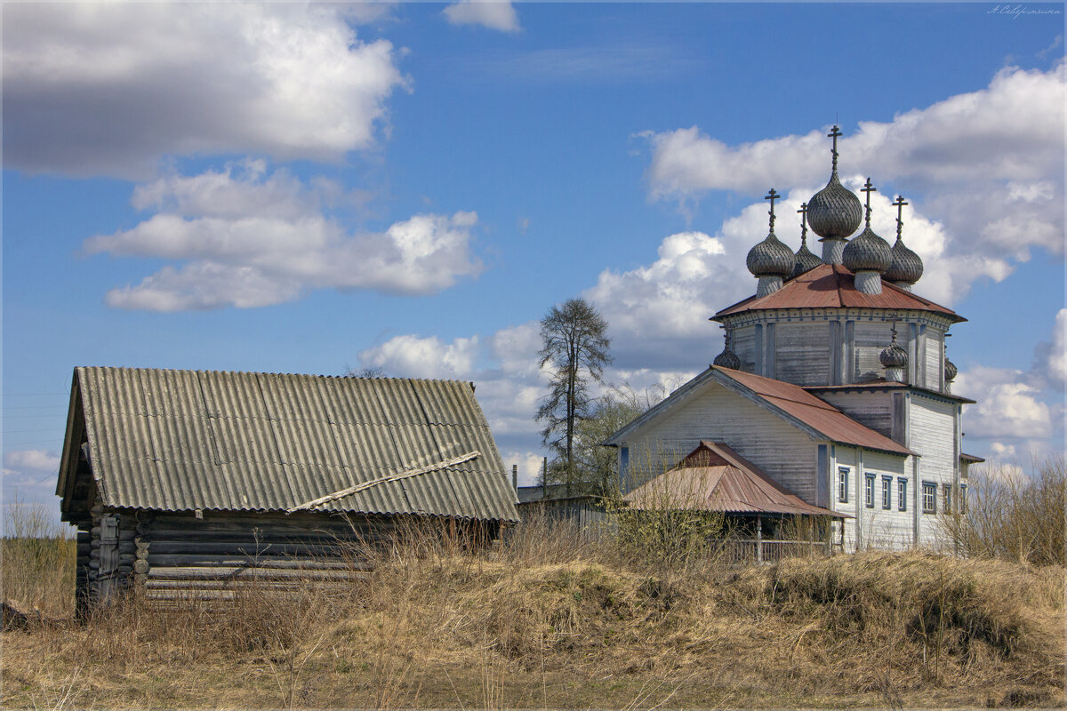
[(330, 3), (4, 7), (6, 167), (147, 175), (168, 155), (338, 161), (409, 80)]

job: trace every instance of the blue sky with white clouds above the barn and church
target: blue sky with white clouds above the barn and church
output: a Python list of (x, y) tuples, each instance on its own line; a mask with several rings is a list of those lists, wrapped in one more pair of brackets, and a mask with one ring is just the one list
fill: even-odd
[(617, 385), (699, 372), (834, 122), (969, 319), (966, 449), (1026, 469), (1064, 447), (1063, 11), (4, 4), (3, 492), (54, 502), (78, 365), (474, 381), (529, 481), (540, 317), (591, 300)]

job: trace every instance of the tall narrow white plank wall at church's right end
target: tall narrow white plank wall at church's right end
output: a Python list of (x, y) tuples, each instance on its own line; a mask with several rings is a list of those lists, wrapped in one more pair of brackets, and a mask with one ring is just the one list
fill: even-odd
[(910, 437), (908, 448), (921, 455), (919, 481), (915, 482), (919, 514), (919, 535), (923, 545), (937, 547), (941, 543), (938, 515), (922, 513), (922, 483), (937, 484), (937, 510), (943, 511), (944, 485), (955, 488), (959, 452), (956, 446), (957, 405), (933, 398), (911, 397)]

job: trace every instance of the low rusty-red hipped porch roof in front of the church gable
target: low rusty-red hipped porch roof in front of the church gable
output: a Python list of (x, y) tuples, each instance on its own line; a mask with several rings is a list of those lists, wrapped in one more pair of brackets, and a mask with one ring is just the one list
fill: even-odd
[(623, 500), (631, 508), (640, 511), (697, 510), (849, 518), (846, 514), (811, 505), (727, 445), (704, 440), (673, 469), (630, 491)]

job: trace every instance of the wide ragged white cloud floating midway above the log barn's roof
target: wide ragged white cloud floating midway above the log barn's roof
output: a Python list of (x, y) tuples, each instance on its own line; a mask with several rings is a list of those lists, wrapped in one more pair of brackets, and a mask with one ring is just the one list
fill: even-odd
[(474, 212), (419, 214), (383, 232), (350, 235), (330, 215), (338, 185), (304, 182), (261, 161), (140, 185), (132, 203), (156, 214), (84, 242), (89, 254), (180, 260), (105, 296), (117, 308), (178, 311), (256, 307), (312, 289), (430, 294), (476, 276)]

